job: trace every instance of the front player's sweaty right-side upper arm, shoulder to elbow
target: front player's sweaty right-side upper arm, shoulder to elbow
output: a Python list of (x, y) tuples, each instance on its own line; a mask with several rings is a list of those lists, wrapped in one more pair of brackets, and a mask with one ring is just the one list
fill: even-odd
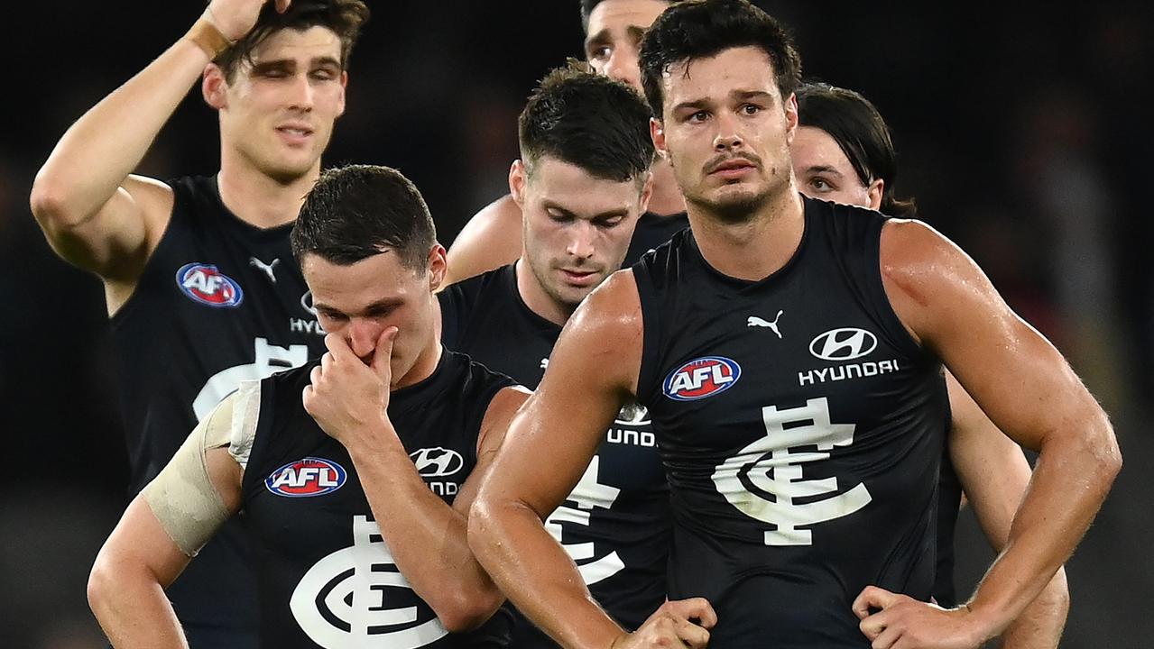
[(899, 318), (1016, 442), (1036, 450), (1046, 436), (1085, 429), (1100, 412), (1062, 354), (929, 226), (886, 224), (882, 274)]

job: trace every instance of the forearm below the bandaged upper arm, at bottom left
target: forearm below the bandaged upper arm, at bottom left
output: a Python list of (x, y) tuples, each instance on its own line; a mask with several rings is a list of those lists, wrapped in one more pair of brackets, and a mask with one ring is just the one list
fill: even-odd
[(118, 564), (93, 569), (88, 601), (117, 649), (188, 647), (164, 588), (144, 566)]

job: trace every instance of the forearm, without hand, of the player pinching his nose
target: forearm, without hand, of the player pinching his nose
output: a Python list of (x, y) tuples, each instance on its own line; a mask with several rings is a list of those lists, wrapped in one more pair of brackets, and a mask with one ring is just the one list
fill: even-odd
[(469, 549), (465, 516), (433, 493), (396, 433), (350, 454), (397, 567), (450, 631), (474, 628), (504, 597)]

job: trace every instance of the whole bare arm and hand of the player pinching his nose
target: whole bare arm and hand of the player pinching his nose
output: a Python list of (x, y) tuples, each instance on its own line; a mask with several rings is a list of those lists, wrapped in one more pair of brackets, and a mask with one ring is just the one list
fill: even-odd
[[(454, 633), (473, 629), (492, 617), (504, 596), (473, 558), (466, 541), (469, 481), (450, 507), (421, 480), (385, 413), (391, 372), (389, 360), (396, 327), (377, 339), (373, 364), (366, 365), (343, 338), (329, 334), (321, 364), (305, 388), (305, 409), (345, 448), (357, 466), (381, 534), (413, 590)], [(523, 393), (494, 399), (489, 425), (508, 421)], [(494, 410), (496, 408), (496, 410)], [(497, 422), (497, 423), (494, 423)], [(484, 428), (484, 423), (482, 423)], [(484, 442), (484, 436), (479, 440)], [(493, 436), (500, 444), (500, 435)], [(478, 466), (495, 448), (478, 450)]]

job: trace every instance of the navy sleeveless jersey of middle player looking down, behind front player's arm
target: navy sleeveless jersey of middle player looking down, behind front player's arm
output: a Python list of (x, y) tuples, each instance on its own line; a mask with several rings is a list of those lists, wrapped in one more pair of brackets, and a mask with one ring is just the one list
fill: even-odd
[[(452, 285), (440, 299), (447, 347), (537, 387), (561, 327), (525, 305), (514, 265)], [(546, 528), (601, 606), (635, 628), (665, 601), (669, 526), (668, 486), (649, 417), (627, 407)], [(517, 617), (514, 647), (556, 647)]]

